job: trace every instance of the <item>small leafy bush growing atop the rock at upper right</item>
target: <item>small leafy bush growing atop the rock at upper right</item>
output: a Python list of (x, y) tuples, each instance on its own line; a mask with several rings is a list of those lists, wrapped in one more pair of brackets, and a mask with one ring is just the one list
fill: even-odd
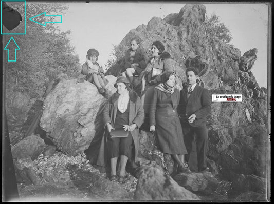
[(224, 23), (220, 22), (219, 17), (213, 13), (210, 18), (206, 16), (206, 32), (210, 36), (216, 36), (225, 43), (232, 40), (231, 33)]

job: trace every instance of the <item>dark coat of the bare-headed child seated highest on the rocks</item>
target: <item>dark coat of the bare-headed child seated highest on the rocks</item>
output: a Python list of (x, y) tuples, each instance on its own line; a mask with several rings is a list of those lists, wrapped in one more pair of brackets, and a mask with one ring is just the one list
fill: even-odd
[[(129, 62), (130, 52), (131, 52), (131, 49), (128, 49), (125, 52), (125, 56), (124, 56), (125, 64), (124, 64), (123, 71), (125, 71), (127, 68), (132, 67), (131, 63)], [(138, 47), (135, 51), (134, 60), (133, 60), (133, 63), (139, 63), (139, 66), (135, 68), (135, 71), (138, 74), (140, 74), (144, 70), (144, 68), (147, 66), (148, 60), (149, 60), (148, 54), (142, 48)]]

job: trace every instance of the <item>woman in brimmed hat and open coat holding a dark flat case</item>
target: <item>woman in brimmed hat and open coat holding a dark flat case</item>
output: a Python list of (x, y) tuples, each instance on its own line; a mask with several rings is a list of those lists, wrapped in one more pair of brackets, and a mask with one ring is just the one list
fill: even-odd
[[(107, 155), (111, 161), (111, 177), (110, 180), (117, 180), (116, 166), (117, 159), (120, 157), (120, 175), (118, 181), (125, 182), (125, 166), (128, 159), (133, 160), (135, 165), (139, 144), (139, 127), (143, 123), (144, 112), (141, 99), (136, 92), (128, 88), (130, 81), (120, 76), (117, 78), (117, 92), (109, 98), (103, 111), (103, 123), (106, 127), (106, 147)], [(128, 131), (127, 137), (111, 137), (111, 131), (122, 129)], [(101, 144), (102, 146), (102, 144)], [(100, 151), (101, 153), (104, 151)], [(104, 157), (98, 156), (99, 159)], [(97, 162), (97, 164), (104, 164)]]

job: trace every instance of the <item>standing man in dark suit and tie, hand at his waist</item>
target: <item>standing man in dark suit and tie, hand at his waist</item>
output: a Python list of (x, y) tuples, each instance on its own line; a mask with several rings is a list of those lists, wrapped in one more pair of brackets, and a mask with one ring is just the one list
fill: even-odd
[[(180, 104), (178, 113), (180, 116), (182, 132), (188, 151), (189, 164), (195, 164), (195, 158), (191, 156), (196, 145), (198, 172), (209, 171), (206, 165), (208, 148), (208, 130), (206, 116), (210, 113), (211, 100), (207, 89), (197, 85), (197, 71), (194, 67), (186, 70), (188, 86), (180, 91)], [(196, 136), (196, 142), (195, 142)], [(187, 160), (187, 159), (186, 159)], [(190, 168), (195, 170), (195, 168)]]

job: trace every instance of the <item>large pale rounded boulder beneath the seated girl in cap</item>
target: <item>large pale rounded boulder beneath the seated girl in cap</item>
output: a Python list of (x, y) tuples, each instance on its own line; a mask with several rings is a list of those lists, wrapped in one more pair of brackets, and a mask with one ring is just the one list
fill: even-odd
[[(109, 75), (107, 79), (106, 88), (114, 93), (116, 77)], [(96, 132), (103, 129), (105, 101), (88, 81), (60, 80), (46, 96), (40, 126), (59, 150), (75, 156), (87, 149)]]

